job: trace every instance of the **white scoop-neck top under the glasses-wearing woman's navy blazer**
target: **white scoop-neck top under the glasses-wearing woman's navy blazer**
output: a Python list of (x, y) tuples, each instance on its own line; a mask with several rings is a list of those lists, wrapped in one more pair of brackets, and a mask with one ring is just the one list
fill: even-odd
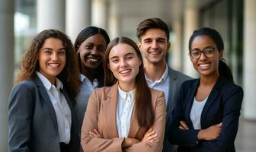
[(197, 101), (196, 98), (194, 98), (194, 102), (190, 111), (190, 119), (193, 123), (194, 129), (201, 129), (201, 114), (207, 98), (208, 97), (206, 97), (206, 99), (203, 101)]

